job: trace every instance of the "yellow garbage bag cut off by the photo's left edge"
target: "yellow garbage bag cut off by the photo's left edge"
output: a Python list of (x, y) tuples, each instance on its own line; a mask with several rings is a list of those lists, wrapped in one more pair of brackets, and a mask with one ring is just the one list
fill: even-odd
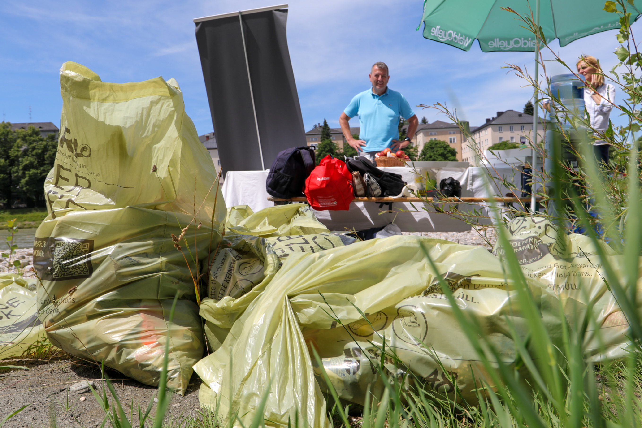
[(46, 337), (38, 319), (35, 278), (0, 273), (0, 359), (16, 357)]

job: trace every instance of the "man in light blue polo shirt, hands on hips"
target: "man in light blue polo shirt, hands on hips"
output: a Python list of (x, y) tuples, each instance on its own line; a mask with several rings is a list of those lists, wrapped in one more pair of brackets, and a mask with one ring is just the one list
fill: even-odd
[[(419, 120), (406, 98), (396, 90), (388, 88), (388, 65), (376, 62), (372, 65), (368, 77), (372, 88), (352, 98), (339, 117), (339, 123), (348, 144), (356, 151), (365, 151), (374, 157), (375, 153), (386, 147), (397, 151), (408, 146), (415, 136)], [(350, 133), (349, 120), (357, 114), (361, 132), (359, 139), (355, 140)], [(408, 136), (404, 141), (399, 141), (400, 117), (408, 120)]]

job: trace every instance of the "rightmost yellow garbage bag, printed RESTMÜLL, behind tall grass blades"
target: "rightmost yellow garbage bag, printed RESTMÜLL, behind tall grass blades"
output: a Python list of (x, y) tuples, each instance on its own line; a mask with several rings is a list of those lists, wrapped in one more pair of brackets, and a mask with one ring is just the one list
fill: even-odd
[[(582, 345), (587, 361), (617, 359), (630, 345), (629, 323), (603, 278), (605, 271), (591, 238), (558, 234), (545, 218), (516, 218), (508, 224), (510, 243), (526, 277), (537, 279), (559, 296), (571, 325), (582, 325), (593, 306)], [(600, 241), (616, 275), (623, 256)], [(502, 253), (501, 248), (494, 249)], [(638, 305), (641, 302), (638, 302)]]

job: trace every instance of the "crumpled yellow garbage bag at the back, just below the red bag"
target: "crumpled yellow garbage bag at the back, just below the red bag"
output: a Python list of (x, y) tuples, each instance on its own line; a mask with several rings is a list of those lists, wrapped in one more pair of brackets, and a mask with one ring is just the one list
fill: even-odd
[(247, 205), (232, 207), (227, 215), (226, 228), (235, 234), (261, 237), (329, 232), (305, 203), (275, 205), (258, 212), (252, 212)]

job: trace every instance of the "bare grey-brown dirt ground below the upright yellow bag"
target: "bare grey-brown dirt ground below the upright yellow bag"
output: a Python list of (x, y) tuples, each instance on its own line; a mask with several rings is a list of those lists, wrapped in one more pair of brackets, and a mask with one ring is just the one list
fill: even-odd
[[(96, 390), (102, 391), (104, 381), (98, 366), (78, 360), (64, 360), (55, 362), (28, 362), (14, 361), (12, 365), (24, 365), (31, 370), (0, 370), (0, 420), (6, 415), (28, 404), (21, 413), (13, 416), (3, 428), (33, 427), (100, 427), (105, 418), (105, 412), (91, 391), (82, 393), (69, 392), (69, 386), (76, 382), (92, 380)], [(132, 381), (113, 370), (107, 370), (107, 375), (112, 379), (114, 389), (123, 404), (127, 407), (125, 412), (130, 413), (130, 406), (134, 403), (134, 421), (138, 425), (138, 405), (144, 411), (150, 400), (157, 393), (157, 388)], [(189, 388), (184, 397), (173, 395), (166, 413), (166, 423), (169, 426), (180, 423), (186, 416), (197, 416), (198, 388), (200, 379), (196, 374), (192, 376)], [(110, 403), (110, 395), (105, 384)], [(85, 400), (81, 400), (85, 397)], [(152, 415), (155, 415), (156, 404), (153, 404)], [(56, 424), (52, 424), (53, 418)], [(173, 422), (173, 423), (172, 423)], [(106, 426), (110, 426), (107, 424)]]

